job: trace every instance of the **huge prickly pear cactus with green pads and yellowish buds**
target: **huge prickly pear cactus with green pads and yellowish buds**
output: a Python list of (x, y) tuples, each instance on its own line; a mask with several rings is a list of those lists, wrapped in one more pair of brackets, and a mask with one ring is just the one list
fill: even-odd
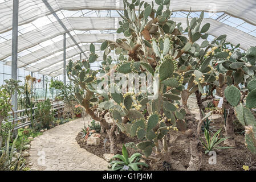
[[(191, 21), (188, 19), (187, 27), (183, 28), (181, 23), (170, 18), (170, 1), (156, 3), (159, 5), (157, 10), (153, 8), (154, 3), (124, 0), (125, 10), (124, 14), (120, 14), (122, 20), (119, 22), (117, 33), (123, 33), (125, 38), (115, 42), (102, 40), (100, 49), (104, 54), (99, 71), (90, 69), (90, 64), (98, 59), (92, 44), (88, 60), (77, 63), (70, 61), (67, 65), (68, 78), (76, 84), (75, 96), (89, 109), (88, 113), (94, 108), (109, 111), (123, 133), (141, 140), (137, 147), (146, 157), (152, 154), (154, 147), (156, 154), (166, 152), (166, 148), (159, 151), (159, 140), (166, 146), (166, 135), (170, 130), (186, 130), (186, 110), (182, 109), (181, 100), (182, 104), (186, 105), (190, 94), (197, 90), (203, 96), (210, 96), (214, 87), (228, 83), (233, 86), (227, 89), (225, 94), (230, 103), (237, 106), (238, 97), (243, 92), (237, 86), (247, 86), (256, 70), (251, 64), (254, 60), (254, 48), (250, 51), (252, 53), (245, 55), (236, 51), (239, 46), (233, 47), (225, 42), (226, 35), (221, 35), (212, 42), (206, 40), (210, 24), (201, 24), (204, 13), (199, 18), (193, 18)], [(144, 10), (141, 10), (141, 7), (144, 7)], [(199, 39), (203, 39), (201, 44), (197, 43)], [(108, 56), (111, 51), (115, 51), (119, 57), (112, 59)], [(125, 90), (125, 93), (111, 92), (111, 88), (118, 91), (124, 89), (119, 82), (111, 83), (106, 88), (104, 84), (101, 89), (97, 87), (101, 82), (109, 83), (111, 76), (120, 73), (124, 77), (131, 73), (151, 75), (156, 97), (147, 89)], [(186, 84), (188, 86), (185, 88)], [(141, 86), (141, 83), (139, 85)], [(253, 90), (256, 84), (251, 82), (249, 85), (250, 100), (246, 103), (249, 103), (248, 108), (252, 108), (255, 107)], [(234, 98), (231, 97), (233, 94)], [(243, 110), (237, 111), (241, 112), (239, 118), (246, 123), (250, 120), (246, 120), (247, 110), (246, 117)], [(252, 135), (249, 130), (248, 133), (250, 137), (247, 137), (247, 140), (250, 140)]]

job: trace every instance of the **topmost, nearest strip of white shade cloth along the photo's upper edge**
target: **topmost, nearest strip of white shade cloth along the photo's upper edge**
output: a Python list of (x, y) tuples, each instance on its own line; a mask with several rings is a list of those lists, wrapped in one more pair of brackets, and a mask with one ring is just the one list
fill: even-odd
[[(47, 0), (52, 9), (59, 10), (123, 10), (123, 0)], [(151, 0), (145, 2), (151, 3)], [(154, 1), (155, 2), (155, 1)], [(157, 5), (156, 5), (157, 6)], [(252, 0), (171, 0), (174, 11), (224, 12), (256, 25), (256, 1)], [(11, 30), (13, 0), (0, 4), (0, 34)], [(19, 0), (19, 25), (51, 14), (43, 1)]]

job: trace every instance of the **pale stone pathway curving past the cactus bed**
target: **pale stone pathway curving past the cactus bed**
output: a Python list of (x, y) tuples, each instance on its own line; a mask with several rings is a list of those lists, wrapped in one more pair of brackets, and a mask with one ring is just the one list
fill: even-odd
[[(86, 126), (90, 117), (85, 117)], [(103, 171), (108, 163), (80, 148), (75, 138), (84, 127), (83, 118), (50, 129), (31, 142), (30, 168), (46, 171)], [(45, 160), (44, 160), (45, 159)]]

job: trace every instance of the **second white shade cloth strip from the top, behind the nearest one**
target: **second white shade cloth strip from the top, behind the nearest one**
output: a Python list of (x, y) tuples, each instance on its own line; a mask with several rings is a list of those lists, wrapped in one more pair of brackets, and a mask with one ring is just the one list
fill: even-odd
[[(71, 30), (113, 30), (117, 29), (120, 18), (66, 18), (63, 19), (63, 23)], [(176, 22), (181, 22), (183, 27), (186, 27), (185, 18), (172, 18)], [(242, 49), (247, 49), (250, 46), (255, 45), (256, 38), (252, 35), (246, 34), (243, 31), (230, 27), (227, 24), (218, 22), (214, 19), (204, 19), (202, 24), (210, 23), (211, 27), (208, 31), (210, 35), (220, 36), (226, 34), (227, 41), (233, 44), (241, 44)], [(27, 32), (26, 34), (18, 36), (18, 52), (21, 52), (27, 48), (36, 46), (48, 39), (54, 38), (58, 35), (64, 34), (65, 31), (58, 22), (48, 24), (47, 26), (40, 27), (36, 30)], [(99, 39), (95, 39), (95, 42)], [(0, 60), (5, 59), (11, 55), (11, 40), (0, 43), (1, 52)]]

